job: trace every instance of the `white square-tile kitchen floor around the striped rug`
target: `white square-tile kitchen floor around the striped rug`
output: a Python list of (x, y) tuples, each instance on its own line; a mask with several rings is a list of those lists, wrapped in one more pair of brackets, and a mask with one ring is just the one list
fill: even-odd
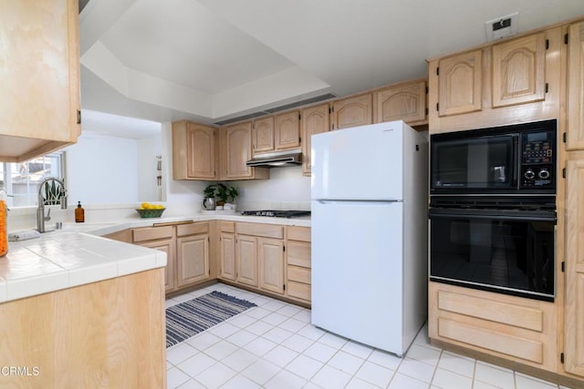
[(217, 283), (166, 305), (220, 291), (248, 309), (167, 350), (168, 388), (565, 389), (443, 351), (424, 326), (403, 358), (322, 331), (310, 310)]

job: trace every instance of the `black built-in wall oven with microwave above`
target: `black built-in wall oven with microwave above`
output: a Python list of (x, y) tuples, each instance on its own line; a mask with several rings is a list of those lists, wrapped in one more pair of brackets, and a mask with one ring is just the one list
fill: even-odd
[(557, 121), (431, 136), (430, 279), (556, 295)]

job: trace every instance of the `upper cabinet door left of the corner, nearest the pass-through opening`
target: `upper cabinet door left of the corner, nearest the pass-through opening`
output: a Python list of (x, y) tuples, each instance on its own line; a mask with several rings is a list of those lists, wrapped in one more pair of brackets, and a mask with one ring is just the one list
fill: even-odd
[(188, 123), (186, 129), (187, 177), (215, 178), (214, 128)]

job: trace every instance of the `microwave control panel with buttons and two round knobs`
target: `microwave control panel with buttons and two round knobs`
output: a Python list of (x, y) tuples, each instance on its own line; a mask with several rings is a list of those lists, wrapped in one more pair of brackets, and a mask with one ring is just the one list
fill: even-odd
[(521, 188), (555, 188), (556, 139), (554, 131), (521, 134)]

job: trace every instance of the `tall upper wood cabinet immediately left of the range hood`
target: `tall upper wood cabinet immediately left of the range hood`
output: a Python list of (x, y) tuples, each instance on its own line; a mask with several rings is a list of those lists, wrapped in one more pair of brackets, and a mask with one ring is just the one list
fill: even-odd
[(269, 179), (269, 169), (245, 166), (252, 159), (252, 123), (238, 123), (221, 131), (220, 179)]

